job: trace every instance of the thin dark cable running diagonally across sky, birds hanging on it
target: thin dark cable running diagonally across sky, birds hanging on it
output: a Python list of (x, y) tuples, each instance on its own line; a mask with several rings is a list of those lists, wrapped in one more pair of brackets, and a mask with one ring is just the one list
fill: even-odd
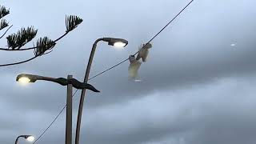
[[(190, 6), (190, 4), (191, 4), (193, 1), (194, 1), (194, 0), (191, 0), (191, 1), (173, 18), (173, 19), (170, 20), (170, 22), (168, 22), (168, 23), (166, 24), (166, 26), (164, 26), (164, 27), (162, 28), (162, 30), (160, 30), (160, 31), (158, 32), (158, 34), (155, 34), (154, 37), (151, 38), (149, 42), (146, 42), (146, 45), (149, 44), (150, 42), (152, 42), (152, 41), (154, 40), (154, 38), (156, 38), (163, 30), (165, 30), (166, 27), (169, 26), (170, 23), (173, 22), (173, 21), (178, 17), (179, 14), (182, 14), (182, 11), (184, 11), (187, 6)], [(146, 46), (146, 45), (145, 45), (145, 46)], [(138, 54), (138, 51), (137, 51), (135, 54)], [(134, 55), (135, 55), (135, 54), (134, 54)], [(126, 58), (126, 59), (123, 60), (122, 62), (119, 62), (118, 64), (116, 64), (116, 65), (114, 65), (114, 66), (111, 66), (110, 68), (108, 68), (108, 69), (102, 71), (101, 73), (94, 75), (93, 77), (89, 78), (88, 80), (91, 80), (91, 79), (93, 79), (93, 78), (96, 78), (96, 77), (98, 77), (99, 75), (102, 75), (102, 74), (106, 73), (107, 71), (114, 69), (114, 67), (121, 65), (122, 63), (126, 62), (127, 60), (129, 60), (129, 58)], [(77, 92), (78, 92), (78, 90), (76, 90), (76, 91), (74, 92), (74, 94), (72, 95), (72, 98), (74, 97), (74, 95), (75, 95)], [(34, 144), (35, 142), (37, 142), (37, 141), (42, 137), (42, 135), (46, 133), (47, 130), (49, 130), (50, 126), (52, 126), (52, 125), (54, 124), (54, 122), (57, 120), (58, 116), (59, 116), (60, 114), (62, 114), (62, 112), (63, 112), (63, 110), (65, 110), (65, 108), (66, 108), (66, 105), (63, 106), (62, 110), (61, 110), (61, 111), (58, 113), (58, 115), (54, 118), (54, 121), (50, 123), (50, 125), (46, 128), (46, 130), (44, 130), (44, 131), (42, 132), (42, 134), (40, 134), (40, 136), (33, 142), (33, 144)]]

